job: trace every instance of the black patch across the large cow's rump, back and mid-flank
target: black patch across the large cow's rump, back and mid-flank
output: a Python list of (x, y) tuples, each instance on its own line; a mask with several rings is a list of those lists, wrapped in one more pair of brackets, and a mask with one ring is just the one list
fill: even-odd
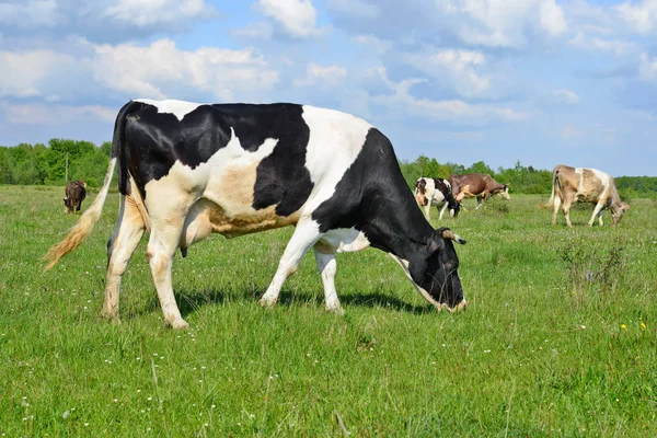
[(145, 198), (148, 182), (168, 175), (176, 161), (192, 169), (207, 162), (228, 145), (231, 129), (250, 152), (267, 138), (278, 140), (257, 166), (253, 208), (276, 205), (277, 215), (289, 216), (306, 203), (313, 187), (304, 166), (310, 128), (301, 105), (200, 105), (178, 120), (143, 104), (128, 115), (125, 129), (127, 166)]

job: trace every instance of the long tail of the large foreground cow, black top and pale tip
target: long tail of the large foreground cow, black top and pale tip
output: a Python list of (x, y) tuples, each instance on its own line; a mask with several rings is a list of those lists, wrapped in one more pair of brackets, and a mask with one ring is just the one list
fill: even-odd
[(99, 221), (105, 199), (107, 198), (107, 192), (110, 192), (110, 184), (112, 184), (112, 177), (114, 176), (114, 168), (118, 162), (118, 189), (122, 194), (127, 192), (128, 172), (127, 165), (123, 153), (124, 145), (124, 130), (126, 126), (126, 118), (128, 114), (135, 110), (136, 106), (141, 106), (139, 102), (130, 101), (120, 108), (116, 116), (116, 123), (114, 124), (114, 137), (112, 139), (112, 157), (110, 159), (110, 165), (107, 166), (107, 173), (105, 174), (105, 181), (103, 187), (97, 194), (93, 204), (84, 214), (80, 217), (78, 223), (69, 230), (68, 235), (59, 243), (50, 247), (48, 253), (44, 256), (45, 262), (49, 262), (45, 267), (45, 270), (50, 269), (59, 262), (61, 257), (68, 253), (74, 251), (80, 244), (87, 239), (87, 237), (93, 230), (93, 227)]

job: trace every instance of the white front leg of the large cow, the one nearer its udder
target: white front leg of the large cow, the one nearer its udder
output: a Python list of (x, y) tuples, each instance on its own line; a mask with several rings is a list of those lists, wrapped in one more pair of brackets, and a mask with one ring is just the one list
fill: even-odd
[(288, 242), (280, 262), (278, 262), (278, 269), (276, 269), (274, 279), (260, 300), (262, 306), (270, 307), (276, 304), (283, 284), (290, 275), (295, 274), (301, 257), (321, 237), (322, 233), (320, 233), (318, 222), (307, 220), (297, 223), (297, 229)]

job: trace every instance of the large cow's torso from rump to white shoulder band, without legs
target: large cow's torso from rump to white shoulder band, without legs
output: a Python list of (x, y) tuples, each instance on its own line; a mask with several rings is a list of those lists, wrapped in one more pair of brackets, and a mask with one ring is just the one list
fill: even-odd
[[(191, 193), (211, 201), (201, 203), (201, 214), (226, 234), (296, 223), (313, 211), (333, 195), (371, 129), (312, 106), (217, 104), (175, 114), (152, 102), (126, 125), (130, 174), (147, 205), (173, 189)], [(168, 141), (153, 140), (162, 137)]]

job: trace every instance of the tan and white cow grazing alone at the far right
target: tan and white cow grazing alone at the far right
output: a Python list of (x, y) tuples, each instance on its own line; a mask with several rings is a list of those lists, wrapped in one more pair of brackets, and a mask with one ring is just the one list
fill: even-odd
[(586, 168), (570, 168), (560, 164), (552, 171), (552, 195), (545, 206), (553, 206), (552, 224), (556, 224), (556, 212), (563, 203), (564, 217), (568, 227), (570, 223), (570, 206), (576, 201), (593, 203), (593, 214), (588, 221), (593, 226), (596, 216), (600, 226), (602, 222), (602, 210), (611, 209), (613, 223), (619, 223), (625, 210), (630, 206), (621, 201), (619, 191), (613, 178), (599, 170)]

